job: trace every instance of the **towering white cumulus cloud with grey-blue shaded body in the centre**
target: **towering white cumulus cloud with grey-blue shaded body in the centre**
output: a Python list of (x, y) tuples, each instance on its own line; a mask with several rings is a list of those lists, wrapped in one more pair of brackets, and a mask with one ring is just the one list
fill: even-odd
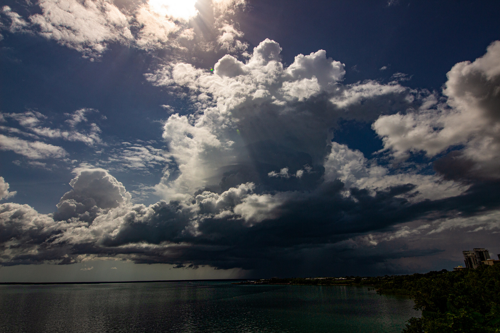
[[(303, 165), (321, 168), (328, 137), (340, 116), (367, 117), (364, 108), (378, 116), (376, 110), (385, 108), (375, 108), (363, 99), (390, 96), (400, 100), (398, 105), (408, 105), (413, 98), (397, 83), (341, 85), (344, 66), (326, 57), (324, 50), (300, 54), (287, 68), (280, 61), (280, 51), (278, 43), (266, 39), (246, 63), (225, 55), (215, 63), (213, 73), (179, 62), (146, 74), (154, 85), (189, 89), (190, 102), (199, 114), (173, 114), (165, 123), (163, 138), (172, 167), (157, 186), (165, 199), (204, 187), (224, 187), (219, 184), (224, 173), (243, 177), (244, 172), (240, 183), (260, 185), (276, 178), (269, 178), (269, 173), (285, 167), (293, 173)], [(398, 106), (393, 103), (393, 107)], [(305, 178), (301, 172), (298, 175), (295, 178), (304, 180), (303, 188), (310, 188), (312, 179), (320, 177), (317, 172)], [(285, 189), (297, 184), (274, 185)]]

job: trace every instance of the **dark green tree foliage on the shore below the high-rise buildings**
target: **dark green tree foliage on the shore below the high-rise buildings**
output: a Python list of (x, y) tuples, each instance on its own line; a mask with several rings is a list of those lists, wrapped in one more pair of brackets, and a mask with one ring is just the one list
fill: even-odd
[(500, 333), (500, 265), (393, 277), (380, 287), (409, 294), (422, 311), (403, 333)]

